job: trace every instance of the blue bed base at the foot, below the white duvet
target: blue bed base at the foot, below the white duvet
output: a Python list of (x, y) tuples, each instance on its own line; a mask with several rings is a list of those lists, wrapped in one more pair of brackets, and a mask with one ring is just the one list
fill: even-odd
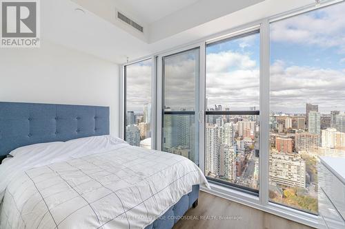
[(194, 185), (190, 193), (181, 197), (177, 204), (169, 208), (164, 215), (156, 219), (145, 229), (171, 229), (188, 209), (197, 206), (198, 198), (199, 185)]

